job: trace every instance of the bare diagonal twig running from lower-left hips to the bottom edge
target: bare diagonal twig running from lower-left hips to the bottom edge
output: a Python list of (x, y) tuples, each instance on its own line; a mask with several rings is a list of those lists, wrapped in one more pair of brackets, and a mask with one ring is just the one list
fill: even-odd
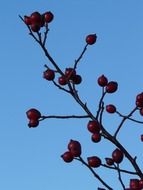
[(84, 164), (94, 175), (95, 178), (97, 178), (107, 189), (109, 190), (113, 190), (109, 185), (107, 185), (107, 183), (105, 183), (105, 181), (103, 181), (101, 179), (101, 177), (80, 157), (79, 159), (76, 159), (78, 161), (80, 161), (82, 164)]

